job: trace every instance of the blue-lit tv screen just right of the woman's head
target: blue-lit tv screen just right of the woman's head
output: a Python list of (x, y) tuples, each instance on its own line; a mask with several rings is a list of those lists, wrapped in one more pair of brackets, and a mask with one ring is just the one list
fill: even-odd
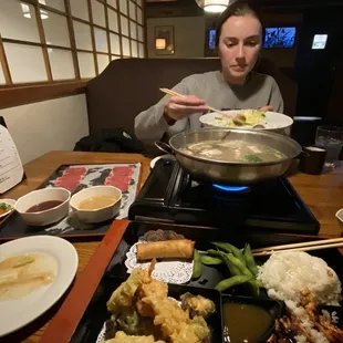
[(263, 48), (293, 48), (295, 43), (295, 28), (266, 28)]

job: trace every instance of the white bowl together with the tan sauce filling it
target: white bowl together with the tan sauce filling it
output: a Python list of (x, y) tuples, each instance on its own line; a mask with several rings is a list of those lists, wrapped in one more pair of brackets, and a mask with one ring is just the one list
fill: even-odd
[(113, 186), (94, 186), (72, 196), (71, 208), (83, 222), (102, 222), (118, 215), (122, 190)]

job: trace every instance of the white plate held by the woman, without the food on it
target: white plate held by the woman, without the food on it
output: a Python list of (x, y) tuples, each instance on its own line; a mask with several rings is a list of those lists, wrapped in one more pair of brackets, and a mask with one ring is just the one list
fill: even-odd
[[(232, 116), (236, 116), (237, 114), (241, 113), (243, 110), (238, 111), (224, 111), (224, 113), (228, 113)], [(226, 127), (226, 128), (252, 128), (251, 126), (225, 126), (221, 123), (216, 122), (216, 118), (222, 117), (221, 114), (216, 112), (207, 113), (202, 116), (200, 116), (200, 122), (205, 126), (215, 126), (215, 127)], [(261, 123), (262, 125), (266, 125), (266, 128), (257, 128), (257, 129), (264, 129), (264, 131), (273, 131), (273, 132), (280, 132), (284, 131), (285, 128), (292, 126), (293, 119), (282, 113), (278, 112), (266, 112), (266, 118), (264, 123)]]

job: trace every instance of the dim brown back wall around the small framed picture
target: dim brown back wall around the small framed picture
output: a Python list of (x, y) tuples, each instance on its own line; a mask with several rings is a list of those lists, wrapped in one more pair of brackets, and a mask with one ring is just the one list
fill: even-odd
[[(155, 54), (155, 27), (174, 25), (174, 55)], [(204, 58), (205, 17), (147, 19), (147, 46), (149, 59)]]

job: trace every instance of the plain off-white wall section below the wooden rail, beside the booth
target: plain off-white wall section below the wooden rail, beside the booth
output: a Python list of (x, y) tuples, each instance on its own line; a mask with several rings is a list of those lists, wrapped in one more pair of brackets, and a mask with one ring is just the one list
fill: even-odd
[(84, 94), (0, 110), (0, 116), (23, 164), (51, 150), (72, 150), (89, 135)]

